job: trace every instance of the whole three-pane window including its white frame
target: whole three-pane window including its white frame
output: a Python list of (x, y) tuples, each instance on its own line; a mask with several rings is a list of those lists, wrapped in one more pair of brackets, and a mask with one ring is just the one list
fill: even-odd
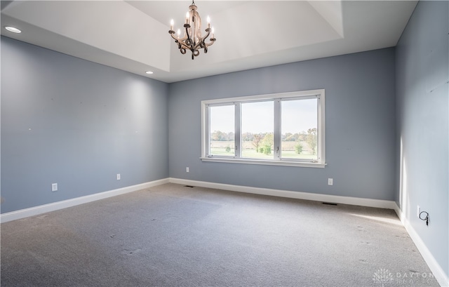
[(201, 102), (203, 161), (326, 166), (324, 90)]

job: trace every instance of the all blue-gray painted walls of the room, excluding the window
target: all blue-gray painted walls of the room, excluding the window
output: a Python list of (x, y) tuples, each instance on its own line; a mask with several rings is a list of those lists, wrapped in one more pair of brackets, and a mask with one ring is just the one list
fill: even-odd
[[(1, 213), (168, 177), (396, 200), (448, 275), (448, 11), (420, 1), (396, 49), (174, 84), (2, 36)], [(201, 100), (317, 88), (326, 168), (199, 159)]]

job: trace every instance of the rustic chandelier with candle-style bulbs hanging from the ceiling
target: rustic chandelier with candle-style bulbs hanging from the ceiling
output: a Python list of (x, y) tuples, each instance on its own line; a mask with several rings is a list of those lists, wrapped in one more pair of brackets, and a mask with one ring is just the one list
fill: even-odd
[[(208, 27), (206, 29), (206, 35), (201, 35), (201, 18), (196, 11), (195, 1), (192, 1), (192, 5), (189, 6), (189, 12), (185, 15), (185, 32), (184, 36), (180, 36), (181, 30), (177, 29), (177, 36), (173, 31), (173, 19), (170, 21), (170, 36), (175, 39), (177, 48), (180, 49), (181, 54), (185, 54), (187, 50), (192, 51), (192, 60), (199, 55), (199, 49), (204, 49), (204, 53), (208, 53), (208, 46), (211, 46), (215, 42), (215, 36), (213, 27), (210, 28), (210, 18), (208, 16)], [(209, 43), (206, 43), (206, 39), (210, 36)]]

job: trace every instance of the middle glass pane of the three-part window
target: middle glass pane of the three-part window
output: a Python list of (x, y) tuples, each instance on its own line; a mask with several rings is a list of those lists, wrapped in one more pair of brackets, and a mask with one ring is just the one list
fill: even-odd
[(274, 159), (273, 101), (241, 104), (241, 157)]

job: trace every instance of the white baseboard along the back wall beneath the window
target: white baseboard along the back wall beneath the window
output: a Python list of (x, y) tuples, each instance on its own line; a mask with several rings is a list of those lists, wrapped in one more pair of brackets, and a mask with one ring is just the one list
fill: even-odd
[(388, 208), (388, 209), (394, 209), (394, 206), (396, 205), (394, 201), (381, 200), (381, 199), (363, 199), (359, 197), (350, 197), (350, 196), (312, 194), (309, 192), (292, 192), (288, 190), (268, 189), (260, 187), (245, 187), (241, 185), (226, 185), (222, 183), (184, 180), (180, 178), (169, 178), (169, 180), (171, 183), (177, 183), (180, 185), (193, 185), (197, 187), (224, 189), (232, 192), (246, 192), (250, 194), (288, 197), (290, 199), (305, 199), (311, 201), (323, 201), (323, 202), (350, 204), (354, 206), (368, 206), (368, 207)]

